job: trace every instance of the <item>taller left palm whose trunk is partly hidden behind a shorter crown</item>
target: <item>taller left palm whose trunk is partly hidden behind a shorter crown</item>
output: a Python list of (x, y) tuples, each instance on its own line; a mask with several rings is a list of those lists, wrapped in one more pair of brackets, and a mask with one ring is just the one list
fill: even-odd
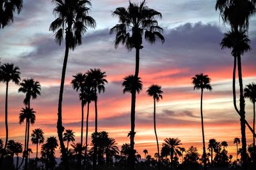
[[(26, 104), (26, 106), (28, 106), (28, 110), (30, 109), (30, 100), (32, 99), (36, 99), (37, 96), (41, 95), (41, 85), (38, 81), (35, 81), (33, 78), (30, 79), (24, 79), (22, 80), (22, 82), (20, 83), (20, 88), (18, 90), (18, 92), (22, 92), (26, 94), (26, 97), (23, 101), (24, 104)], [(27, 138), (25, 139), (25, 147), (24, 150), (28, 149), (28, 145), (29, 145), (29, 121), (26, 122), (26, 132), (27, 132)], [(28, 153), (28, 151), (26, 152)], [(23, 162), (22, 162), (23, 163)], [(28, 155), (26, 155), (25, 158), (25, 169), (28, 169)]]

